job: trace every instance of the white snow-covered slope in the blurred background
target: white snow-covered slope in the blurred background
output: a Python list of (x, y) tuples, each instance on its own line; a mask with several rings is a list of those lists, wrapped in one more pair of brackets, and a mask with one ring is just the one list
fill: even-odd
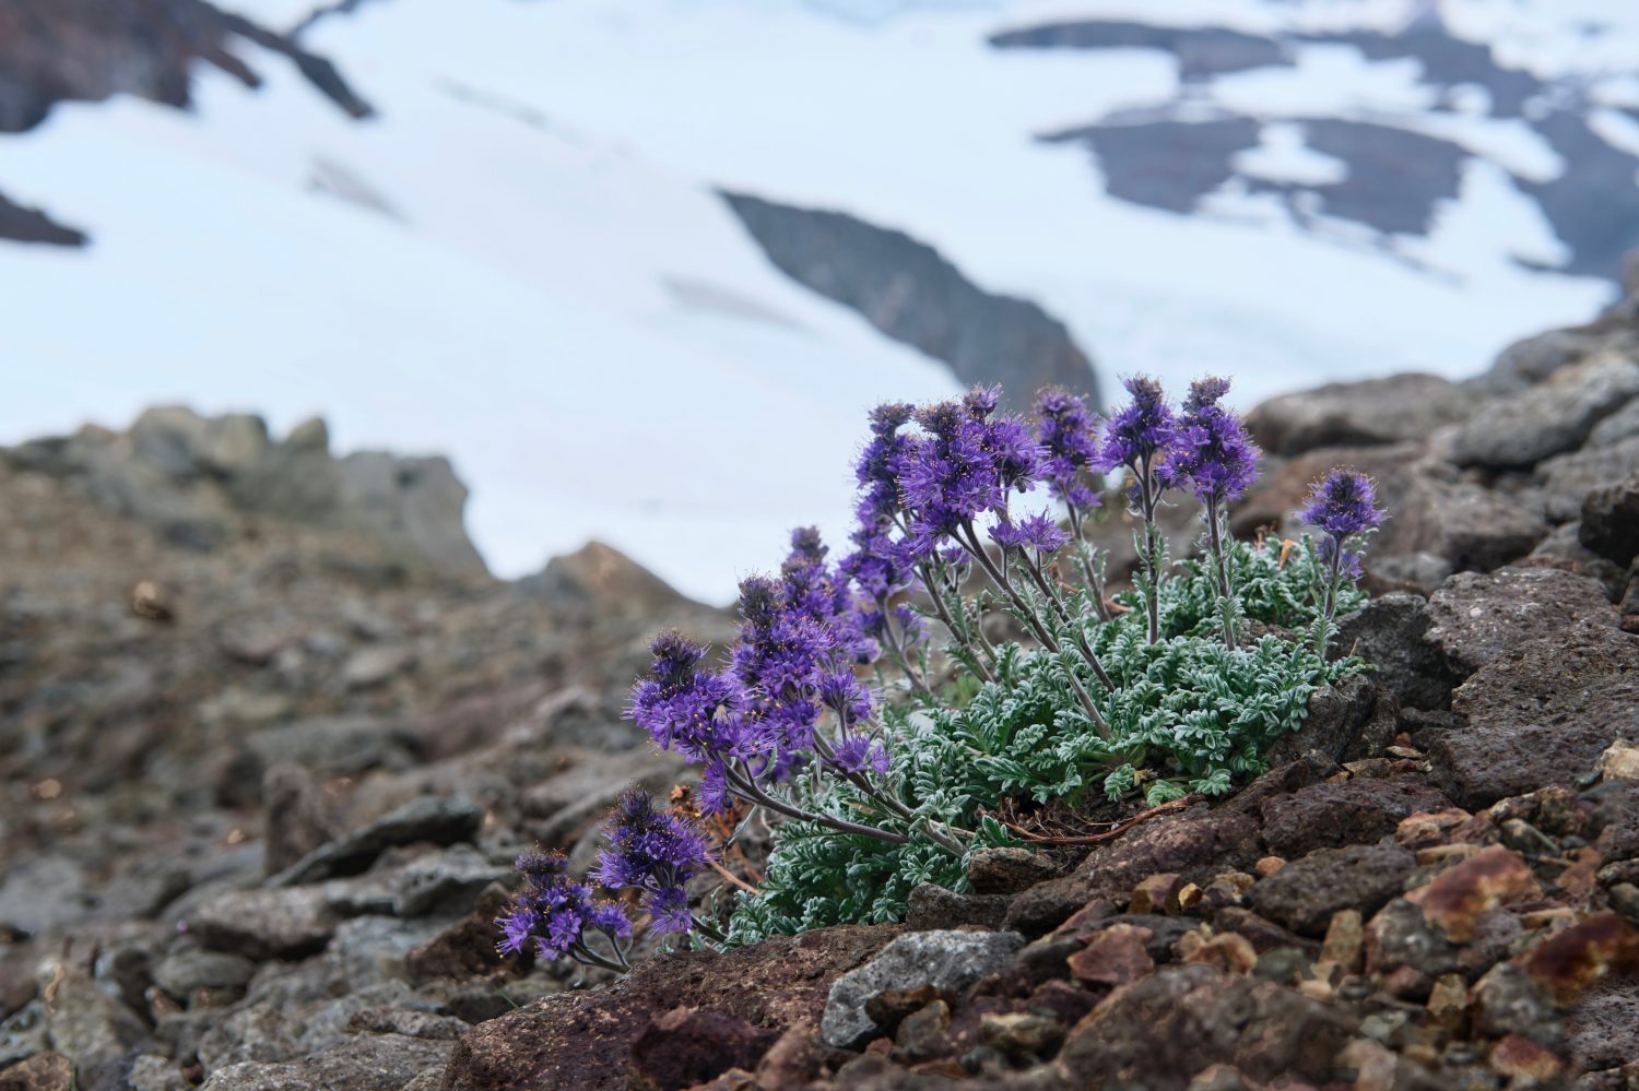
[[(221, 7), (290, 28), (315, 0)], [(1564, 70), (1564, 7), (1472, 0), (1452, 21)], [(1573, 18), (1626, 7), (1578, 0)], [(257, 93), (202, 70), (192, 113), (64, 105), (0, 143), (7, 197), (93, 239), (0, 244), (0, 346), (20, 377), (0, 441), (159, 400), (264, 410), (277, 426), (323, 413), (343, 447), (451, 454), (502, 573), (598, 536), (721, 600), (777, 557), (783, 527), (846, 526), (869, 405), (954, 380), (785, 280), (718, 187), (900, 228), (985, 288), (1039, 301), (1105, 377), (1214, 369), (1242, 400), (1408, 367), (1472, 372), (1519, 334), (1590, 315), (1606, 282), (1516, 260), (1552, 264), (1560, 242), (1491, 161), (1470, 161), (1428, 236), (1388, 256), (1316, 236), (1257, 193), (1214, 193), (1211, 215), (1159, 211), (1103, 193), (1082, 147), (1036, 138), (1170, 102), (1174, 57), (988, 44), (1060, 18), (1269, 29), (1321, 8), (1410, 11), (367, 0), (302, 44), (336, 62), (372, 120), (274, 59)], [(1619, 98), (1619, 82), (1601, 87)], [(1337, 49), (1218, 90), (1270, 115), (1423, 110), (1414, 64)], [(1518, 126), (1439, 123), (1541, 177), (1569, 169)], [(1626, 133), (1621, 116), (1608, 128)], [(1305, 151), (1277, 129), (1249, 169), (1333, 177)]]

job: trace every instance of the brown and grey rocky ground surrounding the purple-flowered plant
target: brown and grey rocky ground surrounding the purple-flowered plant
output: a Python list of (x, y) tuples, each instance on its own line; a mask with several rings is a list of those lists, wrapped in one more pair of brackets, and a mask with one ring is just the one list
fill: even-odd
[(316, 424), (5, 452), (0, 1088), (1639, 1088), (1639, 301), (1251, 423), (1242, 531), (1339, 462), (1393, 513), (1378, 672), (1269, 775), (580, 989), (493, 955), (506, 865), (674, 781), (618, 709), (723, 613), (492, 580), (447, 467)]

